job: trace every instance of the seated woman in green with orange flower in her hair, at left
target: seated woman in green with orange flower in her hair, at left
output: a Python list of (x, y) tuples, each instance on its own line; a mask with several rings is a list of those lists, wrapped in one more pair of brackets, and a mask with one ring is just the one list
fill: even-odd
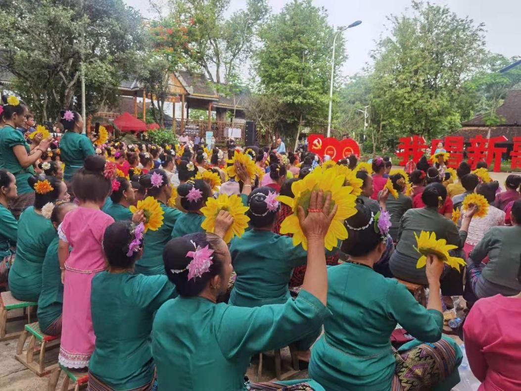
[(42, 209), (55, 201), (69, 201), (65, 182), (55, 177), (29, 178), (35, 190), (34, 206), (20, 215), (16, 261), (9, 271), (9, 288), (18, 300), (38, 301), (42, 290), (42, 264), (47, 248), (56, 237), (51, 221)]

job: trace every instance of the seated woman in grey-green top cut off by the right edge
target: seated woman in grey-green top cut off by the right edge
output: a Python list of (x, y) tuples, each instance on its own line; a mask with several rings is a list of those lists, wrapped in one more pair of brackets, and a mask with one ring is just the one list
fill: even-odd
[[(465, 300), (470, 303), (494, 295), (514, 296), (521, 291), (517, 278), (521, 261), (521, 200), (512, 205), (511, 227), (492, 227), (467, 260)], [(488, 255), (488, 263), (481, 261)]]

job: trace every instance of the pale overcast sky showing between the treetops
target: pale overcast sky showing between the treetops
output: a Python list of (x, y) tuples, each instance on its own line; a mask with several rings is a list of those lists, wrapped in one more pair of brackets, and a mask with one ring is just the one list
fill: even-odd
[[(289, 0), (268, 0), (273, 13), (278, 13)], [(125, 0), (138, 8), (145, 17), (152, 17), (147, 0)], [(231, 0), (230, 13), (244, 6), (242, 0)], [(487, 29), (488, 50), (507, 57), (521, 55), (521, 0), (431, 0), (433, 4), (448, 5), (458, 16), (469, 16), (477, 23), (484, 22)], [(342, 74), (354, 75), (369, 61), (368, 52), (374, 41), (385, 33), (386, 16), (401, 14), (410, 0), (313, 0), (316, 6), (326, 8), (333, 26), (346, 26), (355, 20), (362, 25), (345, 31), (345, 50), (349, 59)]]

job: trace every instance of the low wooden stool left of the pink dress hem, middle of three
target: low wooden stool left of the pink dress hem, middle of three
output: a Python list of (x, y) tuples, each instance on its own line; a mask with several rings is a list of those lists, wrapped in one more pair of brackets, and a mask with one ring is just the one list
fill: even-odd
[[(31, 334), (27, 350), (23, 350), (27, 337)], [(40, 343), (40, 347), (36, 347), (36, 341)], [(54, 342), (53, 342), (54, 341)], [(47, 345), (50, 343), (49, 345)], [(58, 363), (45, 366), (45, 351), (49, 348), (59, 346), (59, 337), (44, 334), (40, 329), (38, 322), (26, 324), (25, 330), (18, 339), (18, 346), (16, 348), (15, 358), (23, 365), (27, 366), (36, 375), (42, 377), (51, 373), (58, 368)], [(38, 363), (34, 362), (34, 353), (40, 353), (40, 360)]]

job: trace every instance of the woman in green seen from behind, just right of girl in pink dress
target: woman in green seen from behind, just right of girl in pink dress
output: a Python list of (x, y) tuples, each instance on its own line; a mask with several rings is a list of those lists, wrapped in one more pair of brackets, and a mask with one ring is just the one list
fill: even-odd
[(108, 270), (92, 280), (96, 346), (89, 363), (89, 389), (153, 389), (150, 333), (154, 313), (176, 293), (167, 276), (133, 273), (135, 261), (148, 245), (143, 242), (143, 230), (143, 224), (130, 221), (115, 222), (105, 230), (103, 251)]

